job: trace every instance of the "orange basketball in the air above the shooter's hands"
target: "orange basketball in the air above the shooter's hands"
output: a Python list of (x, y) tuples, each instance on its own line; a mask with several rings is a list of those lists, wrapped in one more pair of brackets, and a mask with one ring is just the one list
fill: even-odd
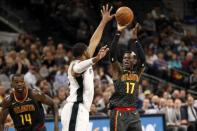
[(126, 6), (120, 7), (116, 11), (115, 18), (118, 24), (120, 24), (121, 26), (125, 26), (133, 21), (133, 11)]

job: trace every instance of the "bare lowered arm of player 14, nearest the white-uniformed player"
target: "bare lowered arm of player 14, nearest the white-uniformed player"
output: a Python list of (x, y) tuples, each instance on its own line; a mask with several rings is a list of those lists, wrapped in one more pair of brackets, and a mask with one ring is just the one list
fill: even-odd
[(41, 92), (39, 90), (36, 90), (36, 89), (33, 90), (32, 95), (33, 95), (34, 99), (36, 99), (37, 101), (40, 101), (41, 103), (52, 107), (54, 121), (55, 121), (54, 122), (54, 131), (58, 131), (59, 127), (58, 127), (58, 106), (57, 106), (57, 104), (55, 104), (55, 102), (53, 102), (52, 98), (45, 95), (43, 92)]

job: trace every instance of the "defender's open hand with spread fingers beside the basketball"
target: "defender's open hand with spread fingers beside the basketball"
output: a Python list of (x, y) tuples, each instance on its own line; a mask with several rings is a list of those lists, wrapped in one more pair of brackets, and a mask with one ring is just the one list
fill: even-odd
[(101, 14), (102, 14), (102, 21), (104, 21), (105, 23), (109, 22), (114, 15), (111, 15), (111, 11), (112, 11), (113, 7), (107, 4), (105, 6), (103, 6), (103, 8), (101, 9)]

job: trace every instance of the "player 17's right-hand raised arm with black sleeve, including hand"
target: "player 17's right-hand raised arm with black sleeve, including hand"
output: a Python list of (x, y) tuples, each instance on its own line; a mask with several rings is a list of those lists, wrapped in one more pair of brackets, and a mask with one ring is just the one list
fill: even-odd
[(137, 74), (138, 74), (138, 77), (140, 77), (145, 69), (146, 60), (145, 60), (145, 53), (142, 48), (142, 45), (137, 39), (138, 30), (139, 30), (139, 24), (137, 23), (136, 26), (131, 30), (131, 36), (132, 36), (131, 39), (133, 41), (132, 43), (134, 43), (136, 46), (136, 51), (137, 51), (137, 55), (139, 58), (138, 60), (139, 62), (137, 62)]

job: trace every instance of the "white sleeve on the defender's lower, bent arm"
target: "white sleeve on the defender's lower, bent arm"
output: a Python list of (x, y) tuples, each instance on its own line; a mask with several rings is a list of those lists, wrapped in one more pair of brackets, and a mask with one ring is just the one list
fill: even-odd
[(92, 58), (74, 64), (73, 71), (75, 73), (82, 73), (87, 70), (91, 65), (93, 65)]

